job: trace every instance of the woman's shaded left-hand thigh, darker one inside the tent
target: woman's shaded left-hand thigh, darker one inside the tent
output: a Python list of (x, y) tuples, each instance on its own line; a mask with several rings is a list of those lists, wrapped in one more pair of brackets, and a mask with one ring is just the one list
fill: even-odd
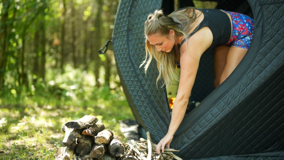
[(220, 77), (223, 72), (226, 57), (230, 46), (223, 45), (214, 50), (214, 87), (219, 86)]

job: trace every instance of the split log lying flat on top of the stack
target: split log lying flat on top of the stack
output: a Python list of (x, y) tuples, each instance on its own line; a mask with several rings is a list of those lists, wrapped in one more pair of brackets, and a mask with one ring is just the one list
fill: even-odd
[(65, 126), (67, 126), (68, 128), (81, 129), (90, 127), (97, 123), (97, 121), (98, 119), (95, 116), (85, 115), (78, 120), (73, 120), (65, 123)]

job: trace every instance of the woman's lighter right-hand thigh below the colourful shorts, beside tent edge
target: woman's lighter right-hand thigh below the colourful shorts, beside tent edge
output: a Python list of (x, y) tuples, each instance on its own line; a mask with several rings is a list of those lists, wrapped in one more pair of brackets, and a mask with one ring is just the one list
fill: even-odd
[(247, 49), (239, 47), (230, 47), (227, 53), (226, 62), (224, 69), (220, 77), (220, 84), (229, 77), (229, 75), (234, 71), (240, 61), (243, 59), (244, 55), (247, 53)]

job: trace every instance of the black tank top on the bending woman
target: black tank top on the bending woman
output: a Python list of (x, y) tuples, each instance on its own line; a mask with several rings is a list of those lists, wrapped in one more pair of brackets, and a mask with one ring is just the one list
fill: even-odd
[[(199, 29), (207, 26), (213, 34), (212, 44), (207, 50), (228, 43), (232, 33), (231, 20), (228, 15), (218, 9), (197, 9), (202, 11), (204, 19), (187, 37), (190, 38)], [(182, 40), (180, 46), (182, 46), (185, 41), (185, 39)]]

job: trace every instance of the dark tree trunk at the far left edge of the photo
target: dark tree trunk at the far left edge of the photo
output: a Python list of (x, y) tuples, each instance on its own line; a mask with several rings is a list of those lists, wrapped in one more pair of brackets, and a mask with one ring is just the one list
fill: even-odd
[(6, 20), (8, 19), (8, 9), (10, 7), (10, 1), (3, 0), (2, 16), (1, 16), (1, 28), (0, 28), (0, 90), (2, 90), (4, 84), (4, 75), (6, 71), (6, 40), (7, 40), (7, 24)]

